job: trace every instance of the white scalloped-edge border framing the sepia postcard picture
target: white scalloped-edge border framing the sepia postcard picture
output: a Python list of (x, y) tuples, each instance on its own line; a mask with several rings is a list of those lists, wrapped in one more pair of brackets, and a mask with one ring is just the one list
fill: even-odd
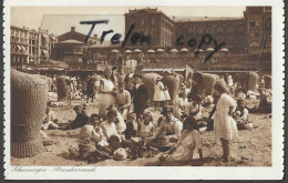
[[(99, 166), (93, 173), (21, 173), (10, 165), (10, 7), (12, 6), (272, 6), (272, 166), (137, 167)], [(8, 180), (281, 180), (284, 176), (284, 2), (282, 0), (6, 0), (4, 1), (4, 176)], [(42, 167), (42, 166), (37, 166)], [(69, 169), (68, 166), (65, 166)], [(31, 167), (32, 169), (32, 167)], [(47, 166), (44, 169), (52, 169)], [(112, 173), (113, 172), (113, 173)]]

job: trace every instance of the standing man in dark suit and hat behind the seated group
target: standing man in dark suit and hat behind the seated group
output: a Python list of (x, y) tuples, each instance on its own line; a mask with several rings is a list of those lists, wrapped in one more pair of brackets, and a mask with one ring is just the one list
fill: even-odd
[(133, 74), (135, 85), (133, 88), (133, 105), (134, 113), (136, 113), (136, 118), (143, 113), (143, 111), (148, 108), (148, 90), (145, 84), (142, 83), (141, 74)]

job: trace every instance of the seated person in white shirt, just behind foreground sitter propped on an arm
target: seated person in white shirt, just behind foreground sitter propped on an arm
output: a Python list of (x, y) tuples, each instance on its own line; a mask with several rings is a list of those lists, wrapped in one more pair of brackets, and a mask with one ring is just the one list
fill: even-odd
[(181, 138), (183, 130), (183, 123), (173, 115), (173, 109), (164, 106), (161, 114), (164, 115), (160, 126), (156, 129), (154, 136), (147, 139), (147, 141), (155, 141), (158, 136), (168, 136), (171, 142), (176, 142)]

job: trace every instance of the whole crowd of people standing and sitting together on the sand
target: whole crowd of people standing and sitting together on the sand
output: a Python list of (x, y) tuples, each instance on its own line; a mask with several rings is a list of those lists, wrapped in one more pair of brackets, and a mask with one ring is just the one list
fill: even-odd
[[(113, 69), (107, 67), (101, 80), (89, 79), (85, 83), (78, 78), (71, 79), (71, 95), (78, 93), (79, 98), (74, 99), (86, 98), (86, 103), (95, 102), (99, 96), (99, 112), (89, 116), (86, 103), (76, 105), (73, 108), (76, 118), (69, 124), (60, 125), (50, 101), (42, 130), (81, 128), (79, 150), (70, 151), (88, 162), (151, 157), (166, 149), (169, 149), (169, 155), (162, 156), (161, 161), (189, 161), (196, 150), (203, 159), (200, 133), (214, 131), (222, 142), (223, 161), (229, 161), (230, 145), (238, 139), (238, 130), (255, 128), (249, 121), (249, 112), (270, 112), (271, 93), (263, 83), (257, 91), (240, 90), (239, 83), (232, 77), (214, 82), (213, 93), (207, 93), (202, 82), (199, 72), (184, 80), (177, 98), (169, 105), (171, 93), (162, 75), (155, 80), (151, 102), (142, 74), (131, 73), (124, 80), (117, 80)], [(56, 90), (55, 84), (53, 90)], [(245, 101), (253, 99), (249, 96), (251, 92), (260, 102), (248, 108)]]

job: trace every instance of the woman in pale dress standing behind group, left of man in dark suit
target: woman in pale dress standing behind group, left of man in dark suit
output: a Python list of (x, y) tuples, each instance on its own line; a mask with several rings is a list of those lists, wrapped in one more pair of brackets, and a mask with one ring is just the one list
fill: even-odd
[(100, 99), (99, 99), (99, 115), (104, 119), (106, 110), (110, 105), (115, 105), (114, 78), (112, 68), (107, 67), (104, 71), (104, 78), (100, 81)]

